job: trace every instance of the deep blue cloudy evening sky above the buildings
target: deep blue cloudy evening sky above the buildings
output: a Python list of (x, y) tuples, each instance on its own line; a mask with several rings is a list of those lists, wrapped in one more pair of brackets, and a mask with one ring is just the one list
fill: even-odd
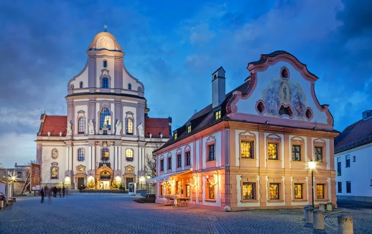
[(0, 163), (36, 159), (40, 115), (66, 115), (67, 82), (107, 20), (149, 116), (182, 126), (211, 103), (211, 73), (226, 92), (260, 54), (285, 50), (319, 79), (315, 93), (342, 131), (372, 109), (372, 1), (0, 1)]

